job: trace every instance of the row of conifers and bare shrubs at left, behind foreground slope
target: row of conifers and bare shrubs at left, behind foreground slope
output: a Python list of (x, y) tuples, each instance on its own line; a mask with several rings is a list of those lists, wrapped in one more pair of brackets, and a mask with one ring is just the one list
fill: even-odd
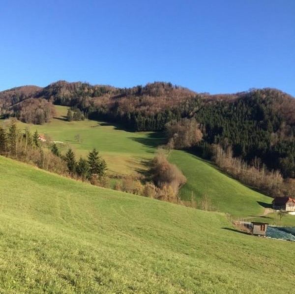
[(69, 148), (61, 154), (59, 147), (53, 143), (49, 150), (42, 147), (37, 130), (32, 134), (29, 128), (20, 130), (16, 123), (7, 129), (0, 125), (0, 155), (35, 165), (63, 176), (91, 180), (105, 175), (107, 165), (96, 148), (89, 152), (87, 158), (80, 156), (76, 160), (74, 151)]

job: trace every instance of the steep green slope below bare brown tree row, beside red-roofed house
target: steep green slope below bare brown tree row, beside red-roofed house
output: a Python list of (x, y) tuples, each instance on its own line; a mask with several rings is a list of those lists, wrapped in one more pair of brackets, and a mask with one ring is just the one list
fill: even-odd
[(234, 217), (261, 215), (265, 209), (258, 202), (272, 201), (272, 198), (249, 189), (192, 154), (175, 150), (169, 155), (169, 161), (176, 164), (187, 178), (187, 183), (180, 190), (183, 199), (190, 200), (193, 192), (197, 202), (200, 202), (207, 195), (214, 208)]

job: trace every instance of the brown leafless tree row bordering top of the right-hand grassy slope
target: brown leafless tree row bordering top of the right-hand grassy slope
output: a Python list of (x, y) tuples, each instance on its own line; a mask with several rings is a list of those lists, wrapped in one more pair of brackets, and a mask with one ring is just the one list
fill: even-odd
[[(192, 131), (194, 132), (192, 133)], [(229, 145), (228, 141), (225, 146), (206, 143), (200, 125), (194, 118), (184, 118), (168, 123), (165, 134), (168, 141), (165, 146), (167, 149), (187, 149), (195, 152), (214, 161), (219, 168), (241, 182), (255, 187), (269, 196), (294, 197), (295, 179), (284, 179), (279, 170), (268, 169), (259, 157), (255, 157), (248, 163), (241, 156), (234, 156), (234, 148)], [(178, 134), (181, 135), (178, 136)]]

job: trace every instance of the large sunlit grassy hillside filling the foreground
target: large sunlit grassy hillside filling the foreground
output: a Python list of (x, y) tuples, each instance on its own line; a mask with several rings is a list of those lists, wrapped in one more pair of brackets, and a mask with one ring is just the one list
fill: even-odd
[(0, 187), (0, 293), (294, 293), (294, 244), (222, 214), (3, 157)]

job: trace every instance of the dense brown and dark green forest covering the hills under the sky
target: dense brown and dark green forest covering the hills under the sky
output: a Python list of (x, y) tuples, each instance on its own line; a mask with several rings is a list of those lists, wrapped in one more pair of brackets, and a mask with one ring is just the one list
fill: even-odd
[(164, 130), (167, 123), (192, 118), (203, 134), (189, 146), (192, 151), (208, 157), (212, 144), (232, 147), (235, 157), (295, 177), (295, 99), (277, 89), (210, 95), (162, 82), (115, 88), (59, 81), (45, 88), (1, 92), (0, 117), (43, 123), (54, 115), (52, 104), (71, 106), (82, 117), (117, 122), (131, 131)]

